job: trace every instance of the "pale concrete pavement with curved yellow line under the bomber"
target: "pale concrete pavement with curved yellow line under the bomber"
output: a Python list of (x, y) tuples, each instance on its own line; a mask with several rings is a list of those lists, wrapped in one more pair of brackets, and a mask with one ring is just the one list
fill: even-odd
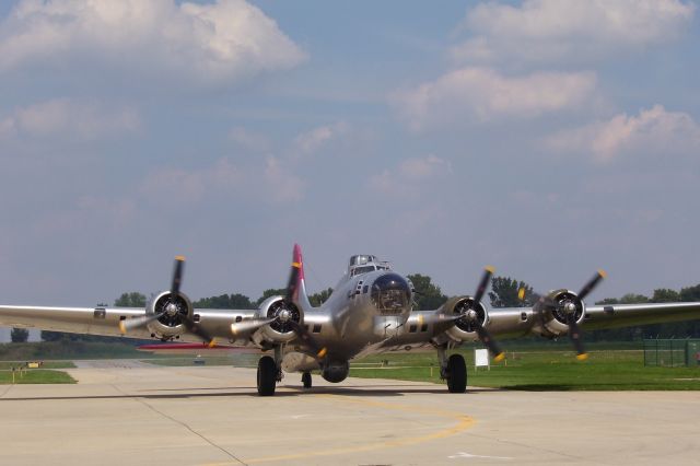
[(441, 385), (84, 362), (0, 385), (0, 464), (698, 464), (700, 392), (448, 394)]

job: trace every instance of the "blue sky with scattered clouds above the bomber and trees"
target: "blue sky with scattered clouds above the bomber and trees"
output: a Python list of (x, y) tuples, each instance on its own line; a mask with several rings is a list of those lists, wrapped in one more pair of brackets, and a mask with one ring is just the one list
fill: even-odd
[(0, 2), (2, 301), (700, 282), (695, 1)]

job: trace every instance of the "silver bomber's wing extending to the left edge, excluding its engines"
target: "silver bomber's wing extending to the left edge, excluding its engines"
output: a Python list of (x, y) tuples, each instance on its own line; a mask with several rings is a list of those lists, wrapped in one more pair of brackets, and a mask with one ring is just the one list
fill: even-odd
[[(66, 331), (70, 334), (88, 334), (102, 336), (125, 336), (126, 338), (152, 338), (152, 330), (147, 326), (129, 329), (126, 334), (119, 324), (135, 318), (144, 318), (147, 311), (142, 307), (42, 307), (0, 305), (0, 326), (30, 327), (43, 330)], [(231, 339), (231, 324), (249, 321), (255, 317), (250, 310), (192, 310), (192, 319), (208, 335), (215, 338)], [(240, 335), (237, 337), (245, 337)], [(179, 341), (201, 341), (197, 335), (184, 329)]]

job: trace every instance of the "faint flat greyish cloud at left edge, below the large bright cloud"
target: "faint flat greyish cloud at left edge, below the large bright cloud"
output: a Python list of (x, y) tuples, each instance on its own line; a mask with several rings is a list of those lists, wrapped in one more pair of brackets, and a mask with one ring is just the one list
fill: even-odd
[(56, 98), (19, 108), (0, 121), (0, 138), (28, 136), (96, 140), (137, 132), (139, 115), (131, 108), (109, 108), (98, 102)]

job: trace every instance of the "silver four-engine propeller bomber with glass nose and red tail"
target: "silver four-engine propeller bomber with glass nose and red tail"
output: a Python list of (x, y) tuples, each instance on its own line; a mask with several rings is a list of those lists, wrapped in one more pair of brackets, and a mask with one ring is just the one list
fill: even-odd
[(254, 311), (194, 308), (180, 291), (183, 269), (184, 258), (178, 256), (171, 289), (158, 294), (145, 308), (3, 305), (0, 325), (199, 342), (195, 347), (200, 350), (256, 350), (264, 354), (258, 362), (257, 389), (269, 396), (275, 394), (283, 372), (302, 373), (302, 384), (310, 388), (312, 371), (320, 371), (326, 381), (338, 383), (348, 376), (352, 359), (409, 350), (435, 350), (448, 391), (463, 393), (467, 386), (464, 358), (448, 356), (463, 342), (480, 340), (494, 360), (501, 360), (503, 352), (493, 336), (569, 335), (578, 358), (585, 359), (582, 327), (599, 329), (700, 318), (700, 302), (586, 306), (583, 300), (605, 277), (603, 271), (579, 293), (556, 290), (537, 295), (532, 305), (489, 308), (481, 300), (491, 268), (486, 269), (474, 295), (452, 298), (434, 311), (412, 311), (416, 290), (411, 282), (372, 255), (352, 256), (332, 294), (323, 305), (313, 307), (306, 294), (299, 245), (294, 245), (284, 296), (271, 296)]

